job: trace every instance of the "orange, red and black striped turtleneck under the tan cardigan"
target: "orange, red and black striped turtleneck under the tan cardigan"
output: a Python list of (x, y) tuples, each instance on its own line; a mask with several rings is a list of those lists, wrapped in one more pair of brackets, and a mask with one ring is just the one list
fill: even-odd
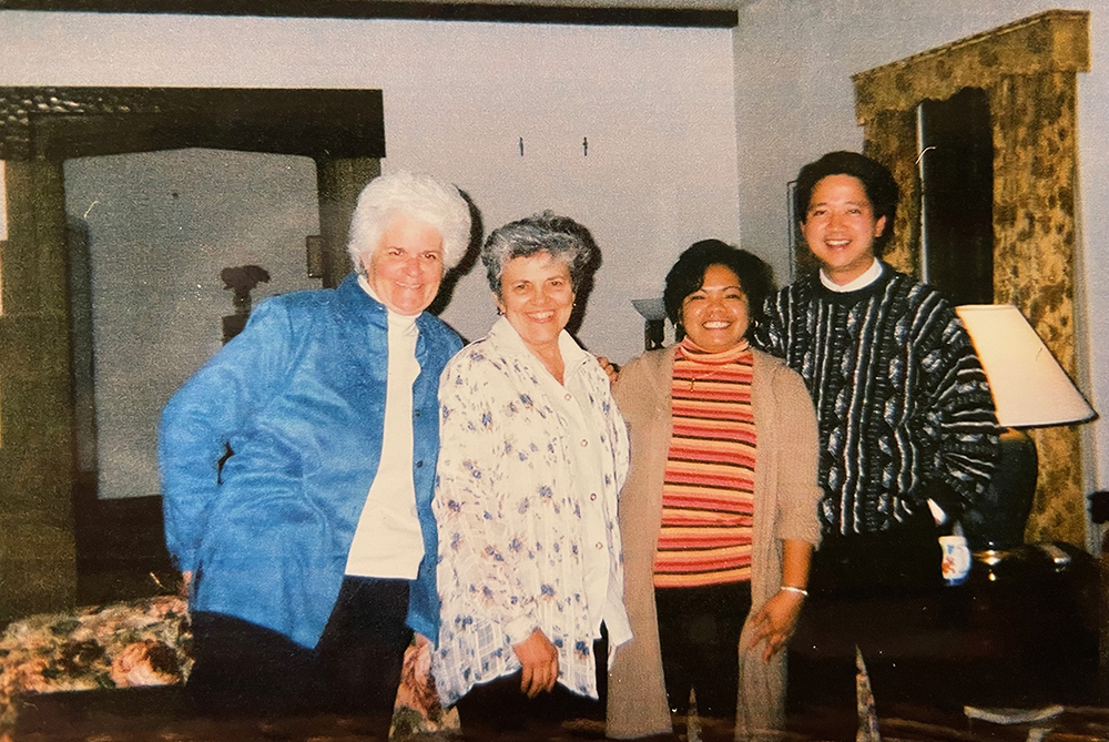
[(749, 580), (756, 450), (751, 349), (742, 343), (710, 354), (686, 338), (675, 353), (654, 585)]

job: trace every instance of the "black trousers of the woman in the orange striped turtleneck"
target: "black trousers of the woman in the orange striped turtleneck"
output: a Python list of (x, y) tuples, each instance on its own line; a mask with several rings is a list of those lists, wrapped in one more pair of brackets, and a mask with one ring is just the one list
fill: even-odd
[(740, 632), (751, 612), (751, 582), (655, 588), (654, 602), (671, 711), (685, 714), (693, 690), (700, 715), (735, 719)]

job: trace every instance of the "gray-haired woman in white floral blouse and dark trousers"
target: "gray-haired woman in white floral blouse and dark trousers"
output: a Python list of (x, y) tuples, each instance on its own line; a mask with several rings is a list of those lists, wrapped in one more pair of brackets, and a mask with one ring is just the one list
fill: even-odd
[(502, 316), (440, 380), (433, 673), (468, 739), (600, 718), (601, 627), (611, 648), (631, 637), (624, 423), (604, 370), (564, 329), (597, 257), (584, 227), (550, 212), (496, 230), (481, 261)]

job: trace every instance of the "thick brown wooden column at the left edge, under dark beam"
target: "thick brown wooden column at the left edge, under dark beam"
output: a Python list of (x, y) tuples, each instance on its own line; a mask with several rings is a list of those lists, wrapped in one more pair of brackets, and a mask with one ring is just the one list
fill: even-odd
[(0, 254), (0, 624), (71, 608), (73, 404), (61, 163), (7, 163)]

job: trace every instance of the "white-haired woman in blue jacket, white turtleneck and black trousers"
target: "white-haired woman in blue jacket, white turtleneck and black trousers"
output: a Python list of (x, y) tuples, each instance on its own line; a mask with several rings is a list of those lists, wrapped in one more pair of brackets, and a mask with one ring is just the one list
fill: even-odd
[(469, 241), (454, 186), (372, 181), (355, 273), (262, 303), (166, 405), (166, 545), (204, 708), (387, 720), (413, 630), (435, 640), (436, 392), (461, 343), (425, 309)]

